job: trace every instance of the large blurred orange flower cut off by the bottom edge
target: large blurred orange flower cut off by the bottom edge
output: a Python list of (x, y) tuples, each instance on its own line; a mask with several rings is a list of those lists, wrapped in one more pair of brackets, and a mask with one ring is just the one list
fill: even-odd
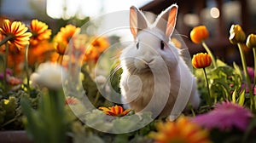
[(210, 143), (206, 129), (196, 123), (191, 123), (186, 117), (177, 118), (176, 122), (158, 123), (158, 132), (152, 132), (150, 137), (156, 143)]

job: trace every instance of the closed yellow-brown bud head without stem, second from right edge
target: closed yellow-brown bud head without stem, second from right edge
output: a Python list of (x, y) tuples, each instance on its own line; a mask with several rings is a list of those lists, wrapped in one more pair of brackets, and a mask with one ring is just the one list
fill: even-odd
[(232, 25), (230, 28), (230, 43), (243, 43), (246, 40), (246, 35), (242, 31), (241, 26)]

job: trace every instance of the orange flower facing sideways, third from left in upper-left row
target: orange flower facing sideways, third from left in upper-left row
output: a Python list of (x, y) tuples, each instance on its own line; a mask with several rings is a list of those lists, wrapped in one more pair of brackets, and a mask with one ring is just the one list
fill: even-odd
[(54, 39), (55, 50), (58, 54), (61, 54), (61, 55), (65, 54), (69, 40), (78, 31), (80, 31), (80, 28), (73, 25), (67, 25), (65, 27), (61, 27), (61, 31), (57, 33)]

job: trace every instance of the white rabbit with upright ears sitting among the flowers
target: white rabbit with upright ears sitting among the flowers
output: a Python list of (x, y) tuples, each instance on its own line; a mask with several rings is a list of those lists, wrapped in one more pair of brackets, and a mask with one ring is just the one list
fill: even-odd
[[(200, 104), (195, 77), (179, 55), (180, 49), (169, 43), (176, 17), (176, 4), (163, 11), (153, 24), (136, 7), (130, 9), (134, 43), (120, 54), (123, 73), (119, 86), (125, 102), (135, 112), (161, 110), (160, 116), (169, 116), (177, 95), (190, 97), (189, 103), (194, 108)], [(151, 99), (154, 100), (150, 102)]]

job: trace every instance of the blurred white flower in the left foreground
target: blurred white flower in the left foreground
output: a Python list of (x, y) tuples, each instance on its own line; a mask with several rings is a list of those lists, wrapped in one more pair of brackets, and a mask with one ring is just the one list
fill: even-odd
[(46, 62), (38, 66), (38, 71), (32, 73), (32, 85), (48, 89), (60, 89), (62, 87), (62, 77), (66, 77), (65, 69), (62, 66)]

